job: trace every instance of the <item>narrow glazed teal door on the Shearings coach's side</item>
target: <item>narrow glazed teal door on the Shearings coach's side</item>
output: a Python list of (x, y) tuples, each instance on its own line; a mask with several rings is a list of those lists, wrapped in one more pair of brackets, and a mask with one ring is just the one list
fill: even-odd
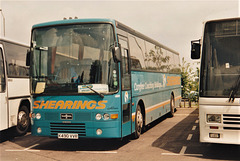
[(122, 137), (131, 133), (131, 77), (127, 38), (119, 36), (121, 44)]

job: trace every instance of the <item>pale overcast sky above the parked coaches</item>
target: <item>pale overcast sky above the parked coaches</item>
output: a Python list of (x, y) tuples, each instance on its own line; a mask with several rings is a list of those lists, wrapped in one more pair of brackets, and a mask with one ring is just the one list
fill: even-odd
[(240, 16), (239, 3), (240, 0), (0, 0), (0, 8), (6, 37), (26, 44), (36, 23), (75, 16), (112, 18), (178, 51), (191, 62), (190, 41), (201, 38), (203, 21)]

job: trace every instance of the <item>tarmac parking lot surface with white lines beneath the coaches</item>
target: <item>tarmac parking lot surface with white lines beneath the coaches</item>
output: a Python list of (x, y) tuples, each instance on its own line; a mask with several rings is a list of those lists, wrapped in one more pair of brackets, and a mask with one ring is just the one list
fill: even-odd
[(199, 143), (198, 122), (198, 108), (177, 108), (173, 118), (155, 121), (137, 140), (58, 140), (28, 133), (0, 143), (0, 160), (240, 160), (238, 145)]

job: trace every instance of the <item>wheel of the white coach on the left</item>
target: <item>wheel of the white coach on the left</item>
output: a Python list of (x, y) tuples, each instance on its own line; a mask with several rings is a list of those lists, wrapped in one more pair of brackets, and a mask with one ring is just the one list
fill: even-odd
[(27, 106), (23, 105), (20, 107), (17, 115), (17, 126), (16, 132), (18, 135), (25, 135), (30, 126), (29, 110)]

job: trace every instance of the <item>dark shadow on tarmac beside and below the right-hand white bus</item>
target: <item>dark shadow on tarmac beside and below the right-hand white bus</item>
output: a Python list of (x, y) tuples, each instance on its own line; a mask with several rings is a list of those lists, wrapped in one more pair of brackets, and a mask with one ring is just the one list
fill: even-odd
[[(240, 160), (240, 146), (227, 144), (207, 144), (199, 142), (199, 127), (195, 121), (198, 119), (198, 109), (188, 117), (175, 125), (152, 143), (153, 147), (179, 154), (183, 146), (187, 146), (184, 154), (192, 157), (216, 160)], [(196, 130), (192, 130), (193, 126)], [(193, 134), (191, 140), (187, 140), (189, 134)], [(197, 154), (197, 155), (196, 155)], [(202, 155), (202, 156), (199, 156)]]

